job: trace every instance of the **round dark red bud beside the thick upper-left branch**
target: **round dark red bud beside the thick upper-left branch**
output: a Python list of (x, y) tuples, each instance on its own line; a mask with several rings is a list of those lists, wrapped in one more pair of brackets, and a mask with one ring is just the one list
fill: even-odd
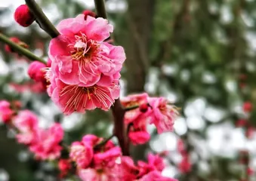
[(20, 5), (14, 13), (14, 19), (20, 26), (27, 27), (34, 22), (35, 17), (27, 5)]

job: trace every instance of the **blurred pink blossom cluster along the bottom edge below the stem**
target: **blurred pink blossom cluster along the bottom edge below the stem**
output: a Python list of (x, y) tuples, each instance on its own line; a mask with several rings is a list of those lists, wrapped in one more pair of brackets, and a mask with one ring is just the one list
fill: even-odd
[(70, 146), (69, 162), (59, 161), (59, 168), (66, 173), (70, 169), (70, 162), (76, 165), (77, 173), (83, 181), (102, 180), (137, 180), (137, 181), (174, 181), (176, 179), (162, 176), (165, 167), (159, 155), (148, 155), (148, 163), (138, 161), (137, 165), (128, 156), (122, 156), (118, 146), (109, 140), (100, 145), (103, 138), (85, 135), (80, 142)]

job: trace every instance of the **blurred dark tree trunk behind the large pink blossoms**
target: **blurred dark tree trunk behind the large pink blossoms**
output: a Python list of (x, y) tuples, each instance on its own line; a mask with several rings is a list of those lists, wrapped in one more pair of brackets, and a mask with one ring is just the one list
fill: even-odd
[[(128, 11), (125, 14), (125, 24), (120, 32), (120, 44), (124, 46), (127, 60), (126, 78), (127, 91), (140, 93), (144, 90), (147, 72), (150, 67), (149, 44), (153, 23), (155, 0), (128, 0)], [(147, 144), (132, 148), (134, 160), (144, 158)]]

